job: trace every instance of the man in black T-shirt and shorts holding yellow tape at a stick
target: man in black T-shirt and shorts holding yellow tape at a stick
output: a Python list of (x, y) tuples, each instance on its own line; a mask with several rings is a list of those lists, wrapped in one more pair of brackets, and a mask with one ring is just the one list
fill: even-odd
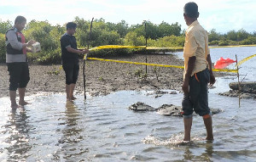
[(66, 93), (67, 100), (76, 99), (73, 96), (73, 91), (79, 77), (79, 55), (78, 53), (88, 53), (88, 49), (79, 50), (77, 41), (74, 35), (77, 25), (73, 22), (68, 22), (67, 32), (61, 36), (61, 59), (62, 67), (66, 74)]

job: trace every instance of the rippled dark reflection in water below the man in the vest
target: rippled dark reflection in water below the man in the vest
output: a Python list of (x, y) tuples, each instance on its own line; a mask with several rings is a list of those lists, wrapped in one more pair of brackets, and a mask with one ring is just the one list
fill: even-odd
[(26, 115), (25, 109), (12, 110), (8, 116), (9, 120), (3, 131), (3, 134), (9, 135), (5, 140), (9, 145), (5, 148), (8, 151), (8, 159), (26, 161), (29, 156), (28, 151), (32, 148), (29, 143), (29, 116)]

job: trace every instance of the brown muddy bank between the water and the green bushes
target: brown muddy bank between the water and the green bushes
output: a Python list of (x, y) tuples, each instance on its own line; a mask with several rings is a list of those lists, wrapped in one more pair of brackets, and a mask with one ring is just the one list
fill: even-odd
[[(151, 64), (183, 65), (183, 60), (172, 54), (133, 54), (108, 59)], [(107, 59), (107, 58), (106, 58)], [(38, 92), (65, 92), (65, 73), (61, 64), (29, 64), (30, 81), (26, 95)], [(86, 60), (86, 95), (106, 95), (121, 90), (163, 90), (181, 91), (183, 69), (147, 66), (147, 77), (143, 78), (146, 66), (140, 64), (121, 64), (98, 60)], [(6, 64), (0, 64), (0, 98), (9, 96), (9, 72)], [(75, 92), (84, 95), (83, 60), (80, 61), (79, 80)]]

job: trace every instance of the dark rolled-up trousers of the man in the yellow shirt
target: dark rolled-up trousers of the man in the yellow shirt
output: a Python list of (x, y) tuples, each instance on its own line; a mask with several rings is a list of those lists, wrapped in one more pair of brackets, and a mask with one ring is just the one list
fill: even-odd
[[(196, 78), (197, 76), (197, 78)], [(195, 111), (198, 115), (209, 115), (208, 107), (208, 83), (210, 81), (209, 70), (202, 70), (189, 78), (189, 95), (183, 96), (183, 116), (186, 117)]]

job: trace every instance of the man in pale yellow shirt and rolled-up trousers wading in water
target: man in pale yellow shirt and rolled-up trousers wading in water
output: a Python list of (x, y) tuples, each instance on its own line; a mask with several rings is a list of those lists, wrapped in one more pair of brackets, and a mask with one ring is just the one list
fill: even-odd
[(208, 107), (208, 87), (215, 83), (212, 73), (212, 60), (208, 48), (207, 31), (199, 24), (198, 6), (186, 3), (183, 17), (189, 28), (186, 31), (183, 49), (183, 122), (184, 141), (190, 141), (192, 113), (202, 116), (207, 129), (207, 140), (213, 140), (212, 113)]

